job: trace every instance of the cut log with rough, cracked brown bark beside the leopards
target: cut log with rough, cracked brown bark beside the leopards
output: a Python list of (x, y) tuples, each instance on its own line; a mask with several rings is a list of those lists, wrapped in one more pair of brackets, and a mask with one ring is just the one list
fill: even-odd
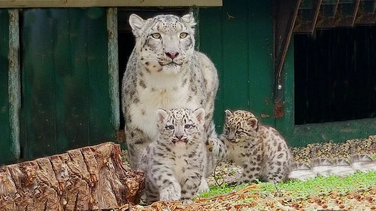
[(0, 210), (78, 211), (139, 203), (144, 172), (123, 166), (103, 143), (0, 168)]

